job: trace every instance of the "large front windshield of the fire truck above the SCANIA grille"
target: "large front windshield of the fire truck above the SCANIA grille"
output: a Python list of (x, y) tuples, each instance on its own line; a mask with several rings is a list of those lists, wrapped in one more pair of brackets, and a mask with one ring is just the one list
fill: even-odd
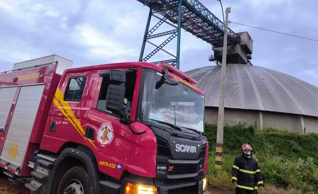
[(148, 122), (166, 122), (203, 132), (204, 96), (183, 83), (175, 86), (164, 83), (156, 90), (156, 83), (161, 77), (160, 72), (146, 69), (141, 119)]

